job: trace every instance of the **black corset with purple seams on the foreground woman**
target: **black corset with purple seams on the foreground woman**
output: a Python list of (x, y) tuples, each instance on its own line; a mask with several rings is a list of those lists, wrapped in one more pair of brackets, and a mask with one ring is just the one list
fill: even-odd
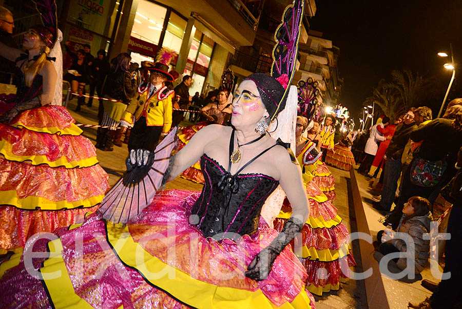
[(217, 240), (254, 234), (261, 208), (279, 182), (262, 174), (230, 175), (206, 154), (201, 157), (201, 169), (205, 183), (192, 206), (190, 223), (205, 237)]

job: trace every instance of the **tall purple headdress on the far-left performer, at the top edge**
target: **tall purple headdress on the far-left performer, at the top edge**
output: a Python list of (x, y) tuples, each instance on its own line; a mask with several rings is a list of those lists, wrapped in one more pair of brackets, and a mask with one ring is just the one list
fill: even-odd
[(33, 26), (37, 34), (49, 48), (53, 47), (57, 35), (56, 3), (54, 0), (32, 0), (35, 9), (40, 13), (43, 26)]

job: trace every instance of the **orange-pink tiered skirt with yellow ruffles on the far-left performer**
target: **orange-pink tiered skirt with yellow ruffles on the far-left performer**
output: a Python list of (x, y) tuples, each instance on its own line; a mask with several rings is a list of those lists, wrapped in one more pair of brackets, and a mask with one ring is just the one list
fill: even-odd
[(97, 209), (108, 177), (81, 134), (61, 106), (33, 108), (9, 125), (0, 123), (0, 254)]

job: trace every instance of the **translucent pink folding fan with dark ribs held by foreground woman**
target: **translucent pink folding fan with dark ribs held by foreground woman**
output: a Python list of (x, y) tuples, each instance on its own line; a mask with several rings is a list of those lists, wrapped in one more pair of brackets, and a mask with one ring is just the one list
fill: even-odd
[(98, 213), (114, 224), (126, 224), (136, 220), (156, 195), (175, 147), (175, 127), (154, 150), (154, 162), (147, 175), (139, 183), (124, 185), (121, 178), (106, 194)]

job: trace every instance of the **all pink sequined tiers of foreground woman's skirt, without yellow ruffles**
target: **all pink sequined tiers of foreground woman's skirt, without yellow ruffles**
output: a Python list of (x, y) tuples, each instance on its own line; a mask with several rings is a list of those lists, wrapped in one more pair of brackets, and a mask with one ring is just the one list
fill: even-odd
[[(143, 237), (156, 232), (165, 233), (166, 227), (172, 223), (170, 221), (167, 224), (166, 218), (173, 218), (176, 224), (176, 236), (166, 238), (167, 246), (169, 248), (175, 246), (177, 252), (176, 262), (171, 265), (183, 271), (188, 269), (192, 278), (199, 276), (193, 280), (203, 280), (218, 286), (232, 286), (247, 291), (261, 289), (263, 294), (277, 306), (291, 301), (299, 293), (306, 293), (310, 298), (311, 307), (314, 308), (313, 297), (304, 290), (306, 280), (304, 268), (290, 248), (284, 249), (276, 259), (273, 271), (266, 280), (255, 282), (246, 277), (229, 280), (214, 278), (211, 272), (213, 267), (221, 267), (222, 272), (225, 272), (227, 267), (235, 267), (242, 274), (245, 265), (259, 252), (260, 247), (267, 245), (277, 235), (275, 230), (269, 229), (262, 221), (258, 233), (244, 236), (239, 243), (230, 240), (218, 243), (199, 235), (197, 244), (200, 249), (197, 252), (200, 266), (190, 268), (190, 256), (186, 255), (190, 244), (189, 235), (196, 236), (198, 230), (187, 223), (186, 214), (198, 196), (199, 192), (194, 191), (159, 192), (155, 201), (143, 211), (142, 221), (129, 225), (132, 238), (138, 240), (149, 253), (163, 259), (165, 246), (152, 241), (143, 242)], [(79, 228), (69, 231), (61, 228), (56, 231), (56, 234), (61, 238), (63, 263), (67, 268), (75, 294), (93, 307), (186, 308), (184, 304), (148, 284), (136, 269), (122, 264), (115, 250), (109, 246), (106, 239), (106, 225), (97, 214), (88, 216)], [(82, 245), (85, 263), (83, 268), (79, 267), (82, 257), (79, 246)], [(45, 248), (44, 246), (41, 249), (34, 248), (34, 251), (45, 251)], [(237, 263), (234, 259), (236, 256), (243, 256), (245, 264)], [(37, 259), (34, 267), (38, 269), (43, 260)], [(207, 271), (210, 273), (206, 273)], [(33, 289), (36, 293), (32, 295), (29, 289)], [(49, 308), (50, 303), (44, 292), (40, 280), (28, 276), (24, 264), (20, 263), (9, 269), (0, 280), (0, 307), (10, 307), (13, 303), (14, 306), (21, 304), (21, 307)], [(181, 291), (176, 292), (181, 293)]]

